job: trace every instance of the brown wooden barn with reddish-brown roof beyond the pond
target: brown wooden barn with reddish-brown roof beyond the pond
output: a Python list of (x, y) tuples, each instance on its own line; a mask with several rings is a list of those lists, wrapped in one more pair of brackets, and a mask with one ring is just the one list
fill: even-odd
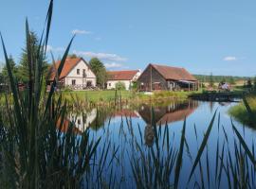
[(137, 78), (141, 91), (197, 90), (198, 81), (184, 68), (149, 64)]

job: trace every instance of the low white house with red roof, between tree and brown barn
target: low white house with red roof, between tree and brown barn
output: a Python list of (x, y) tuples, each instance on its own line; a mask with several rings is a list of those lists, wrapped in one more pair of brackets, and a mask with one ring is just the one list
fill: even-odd
[(123, 70), (123, 71), (109, 71), (107, 80), (107, 89), (115, 89), (118, 82), (125, 85), (125, 89), (129, 90), (134, 81), (140, 76), (139, 70)]

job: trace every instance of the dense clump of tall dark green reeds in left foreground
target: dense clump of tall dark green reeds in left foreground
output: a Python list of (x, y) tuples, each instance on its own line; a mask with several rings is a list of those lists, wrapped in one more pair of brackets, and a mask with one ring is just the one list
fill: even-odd
[[(29, 79), (25, 92), (18, 93), (1, 35), (12, 92), (11, 104), (6, 98), (5, 111), (0, 114), (0, 182), (3, 188), (79, 188), (101, 140), (92, 141), (88, 130), (78, 136), (72, 122), (64, 124), (67, 104), (62, 95), (54, 98), (56, 81), (49, 93), (44, 91), (43, 71), (52, 9), (53, 0), (47, 12), (46, 32), (38, 45), (30, 43), (26, 22), (27, 71), (24, 71), (33, 79)], [(64, 52), (58, 74), (62, 72), (72, 42), (73, 38)]]

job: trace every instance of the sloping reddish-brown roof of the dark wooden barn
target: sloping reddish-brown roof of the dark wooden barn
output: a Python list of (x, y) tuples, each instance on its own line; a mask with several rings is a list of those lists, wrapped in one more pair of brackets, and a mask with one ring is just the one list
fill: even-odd
[(196, 81), (197, 79), (193, 77), (186, 69), (166, 66), (166, 65), (157, 65), (150, 64), (155, 70), (162, 75), (165, 79), (174, 79), (174, 80), (190, 80)]

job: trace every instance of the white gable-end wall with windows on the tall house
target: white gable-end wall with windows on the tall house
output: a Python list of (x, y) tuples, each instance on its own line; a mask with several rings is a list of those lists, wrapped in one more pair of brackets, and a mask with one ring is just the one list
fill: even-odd
[[(80, 74), (77, 74), (77, 69), (80, 69)], [(86, 77), (82, 77), (82, 70), (85, 69)], [(96, 76), (91, 71), (91, 69), (88, 67), (88, 65), (81, 60), (71, 71), (70, 73), (65, 77), (64, 84), (66, 86), (72, 85), (72, 80), (76, 80), (76, 85), (82, 85), (86, 87), (87, 81), (91, 81), (92, 86), (96, 86)]]

